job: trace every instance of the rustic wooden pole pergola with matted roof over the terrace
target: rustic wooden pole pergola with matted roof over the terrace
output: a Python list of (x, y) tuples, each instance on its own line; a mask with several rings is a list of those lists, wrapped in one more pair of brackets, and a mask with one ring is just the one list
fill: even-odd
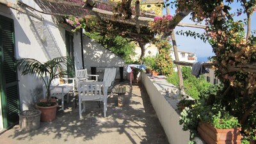
[[(154, 17), (157, 15), (152, 13), (143, 13), (140, 10), (140, 3), (149, 3), (149, 4), (163, 4), (163, 0), (158, 1), (127, 1), (127, 4), (131, 6), (131, 3), (134, 3), (135, 8), (132, 10), (132, 15), (130, 19), (124, 19), (124, 17), (114, 17), (117, 13), (113, 12), (113, 7), (116, 5), (115, 2), (109, 0), (34, 0), (38, 6), (42, 10), (37, 10), (29, 6), (28, 4), (22, 3), (22, 1), (18, 1), (18, 5), (13, 3), (7, 3), (5, 0), (0, 0), (1, 4), (5, 4), (6, 6), (18, 10), (22, 13), (28, 13), (28, 10), (35, 10), (36, 12), (45, 13), (48, 15), (56, 15), (62, 17), (97, 17), (100, 20), (111, 20), (114, 22), (120, 22), (122, 24), (129, 24), (132, 26), (136, 26), (136, 31), (138, 35), (140, 35), (141, 28), (148, 27), (148, 22), (154, 21)], [(166, 12), (170, 14), (169, 9), (166, 8)], [(180, 22), (184, 17), (186, 17), (189, 12), (179, 12), (176, 13), (173, 17), (172, 21), (168, 24), (169, 29), (174, 29), (176, 26), (182, 27), (191, 27), (191, 28), (200, 28), (204, 29), (205, 26), (200, 26), (197, 24), (186, 24)], [(33, 13), (29, 11), (29, 15), (35, 16)], [(120, 14), (120, 13), (119, 13)], [(122, 14), (122, 13), (121, 13)], [(162, 37), (166, 37), (168, 35), (172, 36), (172, 44), (173, 44), (173, 51), (175, 53), (176, 61), (179, 61), (179, 56), (177, 52), (177, 44), (175, 41), (175, 34), (174, 31), (170, 31), (166, 33)], [(183, 88), (183, 81), (182, 81), (182, 73), (179, 65), (182, 63), (177, 63), (177, 69), (179, 73), (180, 79), (180, 90)]]

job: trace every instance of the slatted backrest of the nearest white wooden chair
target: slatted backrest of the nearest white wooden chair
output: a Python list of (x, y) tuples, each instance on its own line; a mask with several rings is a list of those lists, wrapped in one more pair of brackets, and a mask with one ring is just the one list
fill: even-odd
[(79, 81), (77, 90), (81, 100), (103, 100), (107, 97), (107, 88), (104, 88), (103, 81)]

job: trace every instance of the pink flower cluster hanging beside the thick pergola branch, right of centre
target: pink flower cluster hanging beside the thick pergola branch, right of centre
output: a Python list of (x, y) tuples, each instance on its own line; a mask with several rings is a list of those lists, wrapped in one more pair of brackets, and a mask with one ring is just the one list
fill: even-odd
[(154, 17), (154, 22), (148, 22), (149, 29), (158, 34), (169, 33), (169, 22), (173, 19), (172, 15), (163, 15), (163, 17)]

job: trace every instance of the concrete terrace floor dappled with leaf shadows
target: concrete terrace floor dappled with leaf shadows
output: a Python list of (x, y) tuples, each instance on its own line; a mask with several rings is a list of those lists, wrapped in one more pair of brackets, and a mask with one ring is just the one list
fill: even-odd
[(128, 82), (124, 84), (124, 106), (117, 107), (117, 97), (109, 97), (106, 118), (102, 106), (87, 102), (79, 119), (78, 108), (69, 102), (53, 122), (41, 122), (40, 129), (31, 132), (22, 132), (16, 125), (0, 136), (0, 143), (168, 143), (142, 84), (133, 84), (132, 89)]

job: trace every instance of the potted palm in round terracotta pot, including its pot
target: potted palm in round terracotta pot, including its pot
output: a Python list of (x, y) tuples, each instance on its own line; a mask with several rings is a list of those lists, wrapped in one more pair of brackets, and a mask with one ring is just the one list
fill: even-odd
[(52, 60), (41, 63), (32, 58), (22, 58), (17, 60), (17, 69), (20, 70), (21, 75), (30, 75), (39, 77), (44, 82), (47, 99), (36, 103), (36, 108), (40, 109), (41, 121), (51, 122), (56, 118), (57, 102), (51, 101), (51, 83), (56, 78), (61, 78), (67, 74), (67, 70), (63, 66), (70, 66), (71, 61), (68, 57), (58, 57)]

